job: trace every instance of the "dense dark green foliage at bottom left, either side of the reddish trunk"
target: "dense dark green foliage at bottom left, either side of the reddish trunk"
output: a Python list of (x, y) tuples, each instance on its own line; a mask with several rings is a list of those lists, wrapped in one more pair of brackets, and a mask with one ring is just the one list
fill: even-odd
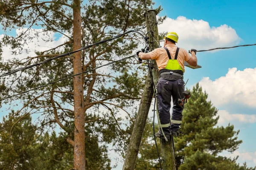
[[(73, 147), (66, 142), (67, 133), (37, 133), (38, 128), (32, 124), (30, 116), (18, 122), (21, 117), (12, 119), (13, 113), (0, 123), (1, 170), (64, 170), (73, 167)], [(15, 122), (17, 124), (11, 131)], [(97, 139), (88, 136), (85, 143), (93, 148), (86, 150), (88, 169), (110, 170), (107, 148), (99, 146)]]

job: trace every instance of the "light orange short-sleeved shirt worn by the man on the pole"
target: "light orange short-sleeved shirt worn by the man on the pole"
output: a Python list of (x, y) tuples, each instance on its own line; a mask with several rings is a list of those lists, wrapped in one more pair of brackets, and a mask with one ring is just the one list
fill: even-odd
[[(172, 59), (174, 59), (175, 53), (177, 50), (177, 46), (175, 44), (167, 44), (166, 47), (168, 48)], [(149, 54), (150, 54), (151, 59), (156, 60), (158, 70), (166, 68), (169, 57), (168, 57), (166, 50), (163, 47), (156, 48), (153, 51), (149, 52)], [(184, 48), (180, 48), (178, 57), (177, 57), (177, 61), (180, 64), (181, 68), (184, 70), (184, 72), (185, 72), (184, 61), (189, 60), (191, 57), (192, 56), (190, 56), (189, 53)]]

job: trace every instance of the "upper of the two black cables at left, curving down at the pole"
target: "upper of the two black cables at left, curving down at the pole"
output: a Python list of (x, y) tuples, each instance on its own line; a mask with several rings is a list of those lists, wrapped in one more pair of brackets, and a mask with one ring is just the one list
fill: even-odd
[[(117, 35), (117, 36), (115, 36), (115, 37), (113, 37), (113, 38), (110, 38), (110, 39), (107, 39), (107, 40), (102, 40), (102, 41), (99, 41), (99, 42), (95, 42), (95, 43), (93, 43), (93, 44), (91, 44), (91, 45), (87, 45), (87, 46), (82, 47), (82, 48), (80, 48), (80, 49), (78, 49), (78, 50), (76, 50), (76, 51), (72, 51), (72, 52), (69, 52), (69, 53), (61, 54), (61, 55), (58, 55), (58, 56), (56, 56), (56, 57), (52, 57), (51, 59), (47, 59), (47, 60), (44, 60), (44, 61), (42, 61), (42, 62), (38, 62), (38, 63), (33, 64), (33, 65), (29, 65), (29, 66), (27, 66), (27, 67), (18, 68), (18, 69), (15, 69), (15, 70), (13, 70), (13, 71), (9, 71), (9, 72), (7, 72), (7, 73), (4, 73), (4, 74), (0, 75), (0, 77), (9, 76), (9, 75), (14, 74), (14, 73), (16, 73), (16, 72), (18, 72), (18, 71), (23, 71), (23, 70), (26, 70), (26, 69), (28, 69), (28, 68), (32, 68), (32, 67), (35, 67), (35, 66), (37, 66), (37, 65), (41, 65), (41, 64), (44, 64), (44, 63), (46, 63), (46, 62), (52, 61), (53, 59), (58, 59), (58, 58), (61, 58), (61, 57), (68, 56), (68, 55), (73, 54), (73, 53), (76, 53), (76, 52), (78, 52), (78, 51), (81, 51), (81, 50), (90, 48), (90, 47), (92, 47), (93, 45), (99, 45), (99, 44), (102, 44), (102, 43), (104, 43), (104, 42), (108, 42), (108, 41), (114, 40), (114, 39), (116, 39), (116, 38), (122, 37), (122, 36), (124, 36), (125, 34), (129, 34), (129, 33), (131, 33), (131, 32), (135, 32), (135, 33), (137, 33), (137, 34), (140, 34), (140, 35), (143, 36), (143, 38), (145, 39), (144, 35), (143, 35), (142, 33), (140, 33), (139, 31), (137, 31), (137, 30), (127, 31), (127, 32), (125, 32), (125, 33), (123, 33), (123, 34), (119, 34), (119, 35)], [(145, 40), (146, 40), (146, 39), (145, 39)]]

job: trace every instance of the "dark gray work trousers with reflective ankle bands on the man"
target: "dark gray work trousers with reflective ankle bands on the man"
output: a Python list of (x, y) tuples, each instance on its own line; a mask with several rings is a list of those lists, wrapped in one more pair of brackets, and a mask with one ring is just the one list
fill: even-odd
[[(177, 131), (181, 125), (182, 111), (184, 105), (178, 105), (178, 99), (182, 99), (184, 94), (183, 79), (167, 80), (162, 77), (157, 85), (157, 109), (159, 113), (163, 132)], [(170, 115), (171, 100), (173, 100), (172, 119)]]

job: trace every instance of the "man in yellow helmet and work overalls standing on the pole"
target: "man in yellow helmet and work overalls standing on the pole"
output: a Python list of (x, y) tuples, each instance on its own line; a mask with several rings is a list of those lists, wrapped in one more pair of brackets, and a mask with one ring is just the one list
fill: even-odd
[[(157, 110), (160, 130), (155, 136), (160, 138), (166, 136), (169, 139), (170, 135), (179, 136), (184, 105), (179, 105), (178, 99), (183, 98), (184, 92), (184, 61), (191, 66), (197, 66), (196, 50), (191, 49), (192, 56), (190, 56), (185, 49), (175, 45), (178, 38), (175, 32), (169, 32), (164, 37), (163, 48), (156, 48), (149, 53), (137, 51), (137, 56), (140, 59), (155, 59), (157, 62), (160, 74), (157, 84)], [(170, 116), (171, 100), (173, 100), (172, 119)]]

